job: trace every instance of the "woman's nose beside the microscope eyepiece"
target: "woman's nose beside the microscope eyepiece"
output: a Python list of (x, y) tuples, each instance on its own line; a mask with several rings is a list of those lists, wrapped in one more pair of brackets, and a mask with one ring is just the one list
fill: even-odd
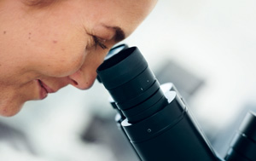
[(90, 89), (97, 76), (96, 69), (102, 64), (107, 53), (108, 51), (102, 50), (86, 55), (79, 70), (68, 76), (73, 81), (72, 85), (78, 89)]

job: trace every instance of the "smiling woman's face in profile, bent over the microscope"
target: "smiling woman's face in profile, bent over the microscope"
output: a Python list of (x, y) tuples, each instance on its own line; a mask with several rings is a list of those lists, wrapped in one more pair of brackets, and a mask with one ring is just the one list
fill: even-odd
[[(154, 0), (57, 0), (44, 8), (0, 3), (0, 114), (67, 84), (89, 89), (111, 47), (143, 21)], [(105, 48), (106, 47), (106, 48)]]

